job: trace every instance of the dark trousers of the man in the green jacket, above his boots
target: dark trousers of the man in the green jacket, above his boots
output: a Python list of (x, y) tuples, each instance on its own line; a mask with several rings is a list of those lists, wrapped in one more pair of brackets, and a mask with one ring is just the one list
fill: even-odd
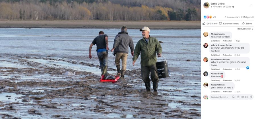
[(150, 82), (149, 72), (150, 72), (151, 81), (158, 82), (159, 80), (158, 80), (158, 74), (156, 71), (156, 65), (152, 65), (152, 66), (141, 65), (141, 78), (144, 82)]

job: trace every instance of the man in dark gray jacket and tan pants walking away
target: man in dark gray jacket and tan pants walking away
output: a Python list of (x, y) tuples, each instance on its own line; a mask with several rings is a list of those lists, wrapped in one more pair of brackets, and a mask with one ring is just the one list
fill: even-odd
[[(117, 73), (121, 77), (124, 77), (125, 71), (126, 71), (126, 61), (128, 57), (128, 46), (131, 49), (131, 55), (133, 56), (133, 50), (134, 50), (134, 45), (133, 45), (133, 39), (131, 36), (128, 35), (127, 32), (127, 27), (123, 26), (121, 27), (121, 32), (119, 32), (115, 36), (115, 41), (113, 48), (111, 49), (111, 52), (114, 51), (115, 56), (115, 65), (117, 67)], [(120, 59), (122, 59), (122, 69), (120, 71)]]

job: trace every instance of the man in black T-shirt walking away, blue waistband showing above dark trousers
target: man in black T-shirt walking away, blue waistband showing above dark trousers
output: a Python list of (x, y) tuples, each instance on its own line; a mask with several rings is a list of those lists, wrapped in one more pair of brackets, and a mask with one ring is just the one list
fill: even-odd
[(100, 69), (101, 69), (101, 73), (103, 71), (103, 68), (106, 66), (108, 67), (108, 35), (104, 35), (103, 31), (99, 32), (99, 35), (97, 37), (94, 38), (94, 40), (92, 41), (91, 45), (90, 45), (90, 49), (89, 49), (89, 58), (92, 59), (92, 54), (91, 54), (91, 50), (92, 50), (92, 46), (95, 45), (97, 46), (97, 55), (98, 58), (100, 60)]

